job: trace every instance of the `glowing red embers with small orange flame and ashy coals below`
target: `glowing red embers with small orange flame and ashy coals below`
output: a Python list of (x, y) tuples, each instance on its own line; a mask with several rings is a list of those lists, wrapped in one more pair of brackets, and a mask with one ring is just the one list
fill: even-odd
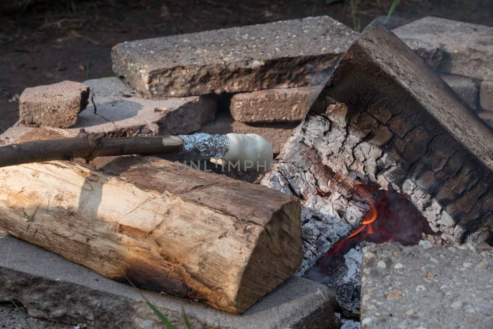
[(411, 246), (430, 237), (439, 239), (412, 202), (393, 188), (385, 191), (358, 184), (354, 187), (353, 198), (370, 207), (361, 225), (334, 244), (304, 274), (306, 278), (332, 287), (337, 292), (339, 312), (351, 318), (359, 316), (359, 266), (363, 247), (384, 242)]

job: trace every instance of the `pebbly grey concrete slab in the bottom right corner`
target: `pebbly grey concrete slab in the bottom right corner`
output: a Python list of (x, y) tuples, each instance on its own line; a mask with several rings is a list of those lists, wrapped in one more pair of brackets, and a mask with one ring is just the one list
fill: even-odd
[(491, 328), (492, 274), (485, 243), (365, 247), (361, 328)]

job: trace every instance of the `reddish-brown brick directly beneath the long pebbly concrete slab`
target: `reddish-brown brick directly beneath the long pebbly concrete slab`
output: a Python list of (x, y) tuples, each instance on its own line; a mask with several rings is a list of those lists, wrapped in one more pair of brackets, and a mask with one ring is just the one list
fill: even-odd
[(231, 99), (231, 114), (245, 123), (301, 121), (320, 90), (321, 86), (239, 93)]

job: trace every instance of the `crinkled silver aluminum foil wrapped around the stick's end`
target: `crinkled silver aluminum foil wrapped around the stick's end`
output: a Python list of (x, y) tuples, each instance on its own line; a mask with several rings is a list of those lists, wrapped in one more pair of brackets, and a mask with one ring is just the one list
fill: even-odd
[(229, 147), (226, 135), (197, 133), (193, 135), (178, 135), (185, 143), (179, 153), (195, 152), (197, 155), (222, 158)]

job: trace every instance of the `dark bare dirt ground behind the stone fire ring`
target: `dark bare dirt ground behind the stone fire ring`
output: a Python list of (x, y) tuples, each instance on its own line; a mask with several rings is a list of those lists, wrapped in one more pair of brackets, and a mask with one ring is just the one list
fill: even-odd
[[(349, 0), (17, 1), (27, 5), (8, 11), (0, 0), (0, 133), (17, 121), (24, 88), (111, 74), (119, 42), (318, 15), (353, 27)], [(361, 27), (391, 3), (354, 0)], [(492, 0), (401, 0), (391, 24), (432, 15), (493, 26), (492, 14)]]

